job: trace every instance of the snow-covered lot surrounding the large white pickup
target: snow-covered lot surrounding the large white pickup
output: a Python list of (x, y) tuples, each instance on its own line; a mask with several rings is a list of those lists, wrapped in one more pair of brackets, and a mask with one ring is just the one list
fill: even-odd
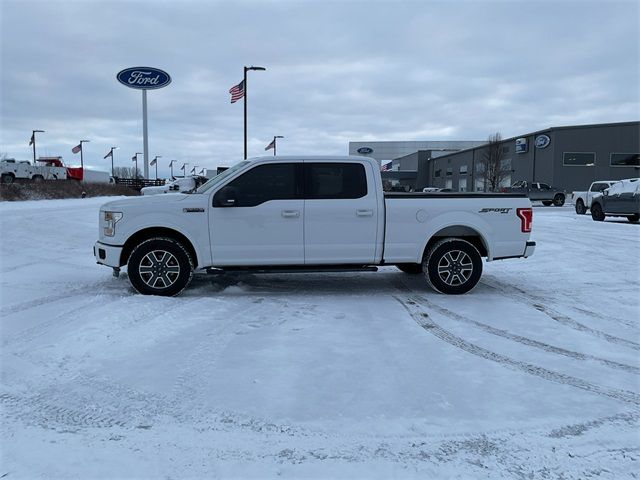
[(535, 208), (462, 297), (94, 263), (105, 199), (0, 204), (1, 478), (637, 478), (640, 226)]

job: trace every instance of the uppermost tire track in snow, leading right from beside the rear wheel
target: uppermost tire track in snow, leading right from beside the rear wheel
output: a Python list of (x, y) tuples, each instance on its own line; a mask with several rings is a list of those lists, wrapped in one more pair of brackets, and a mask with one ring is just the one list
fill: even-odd
[[(545, 301), (544, 298), (542, 297), (538, 297), (536, 295), (531, 295), (527, 292), (525, 292), (524, 290), (514, 287), (514, 286), (506, 286), (506, 285), (502, 285), (499, 283), (494, 283), (494, 282), (487, 282), (486, 280), (481, 280), (481, 283), (489, 288), (492, 288), (493, 290), (496, 290), (500, 293), (504, 293), (505, 295), (507, 295), (509, 298), (514, 299), (519, 301), (520, 303), (524, 303), (525, 305), (529, 305), (533, 308), (535, 308), (536, 310), (538, 310), (541, 313), (544, 313), (546, 316), (548, 316), (549, 318), (551, 318), (552, 320), (555, 320), (556, 322), (565, 325), (567, 327), (573, 328), (574, 330), (578, 330), (580, 332), (584, 332), (584, 333), (588, 333), (590, 335), (593, 335), (595, 337), (601, 338), (609, 343), (614, 343), (616, 345), (623, 345), (625, 347), (628, 348), (632, 348), (633, 350), (640, 350), (640, 344), (637, 342), (633, 342), (631, 340), (627, 340), (626, 338), (620, 338), (620, 337), (616, 337), (615, 335), (611, 335), (609, 333), (603, 332), (601, 330), (597, 330), (595, 328), (591, 328), (587, 325), (584, 325), (576, 320), (574, 320), (571, 317), (568, 317), (567, 315), (564, 315), (560, 312), (558, 312), (557, 310), (551, 308), (551, 307), (547, 307), (545, 305), (542, 304), (542, 302)], [(580, 309), (580, 308), (575, 308), (575, 307), (570, 307), (573, 310), (576, 310), (578, 312), (581, 313), (586, 313), (584, 309)], [(608, 320), (606, 317), (598, 315), (596, 313), (590, 312), (588, 314), (589, 316), (591, 316), (592, 318), (596, 318), (596, 319), (601, 319), (601, 320)], [(632, 325), (628, 322), (621, 322), (624, 325), (631, 327), (631, 328), (637, 328), (637, 325)]]

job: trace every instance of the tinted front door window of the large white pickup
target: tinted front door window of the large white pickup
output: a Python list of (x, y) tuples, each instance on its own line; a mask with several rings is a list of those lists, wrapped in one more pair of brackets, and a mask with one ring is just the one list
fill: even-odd
[(301, 170), (301, 163), (259, 165), (227, 186), (235, 190), (238, 207), (255, 207), (269, 200), (299, 199), (302, 198)]

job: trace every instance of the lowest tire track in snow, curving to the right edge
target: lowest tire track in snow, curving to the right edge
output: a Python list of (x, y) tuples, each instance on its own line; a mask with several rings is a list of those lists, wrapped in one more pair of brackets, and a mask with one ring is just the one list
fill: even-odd
[(486, 348), (468, 342), (458, 337), (457, 335), (454, 335), (453, 333), (443, 329), (440, 325), (433, 321), (427, 313), (419, 308), (420, 299), (414, 297), (401, 299), (400, 297), (395, 295), (393, 297), (405, 308), (411, 318), (413, 318), (413, 320), (426, 332), (429, 332), (430, 334), (438, 337), (440, 340), (443, 340), (444, 342), (456, 348), (464, 350), (478, 357), (499, 363), (507, 368), (519, 370), (528, 373), (529, 375), (540, 377), (551, 382), (580, 388), (590, 393), (595, 393), (597, 395), (621, 400), (633, 405), (640, 405), (640, 395), (634, 392), (601, 387), (599, 385), (587, 382), (576, 377), (572, 377), (570, 375), (565, 375), (563, 373), (554, 372), (552, 370), (538, 367), (530, 363), (514, 360), (513, 358), (507, 357), (506, 355), (492, 352), (491, 350), (487, 350)]

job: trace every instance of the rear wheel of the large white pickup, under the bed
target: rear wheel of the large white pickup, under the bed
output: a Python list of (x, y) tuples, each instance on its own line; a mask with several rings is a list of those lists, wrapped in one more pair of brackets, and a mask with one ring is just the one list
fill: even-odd
[(436, 242), (422, 262), (427, 282), (447, 295), (467, 293), (482, 275), (482, 257), (466, 240), (445, 238)]

